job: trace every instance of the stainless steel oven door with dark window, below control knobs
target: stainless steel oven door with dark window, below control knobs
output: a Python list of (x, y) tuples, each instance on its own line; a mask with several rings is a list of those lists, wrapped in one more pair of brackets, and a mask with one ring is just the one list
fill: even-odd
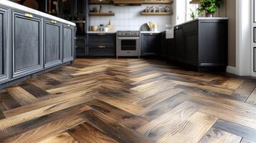
[(140, 56), (140, 37), (118, 37), (117, 47), (118, 56)]

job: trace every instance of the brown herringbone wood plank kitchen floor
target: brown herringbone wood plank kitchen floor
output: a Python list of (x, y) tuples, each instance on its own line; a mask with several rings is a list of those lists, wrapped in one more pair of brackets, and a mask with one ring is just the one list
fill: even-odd
[(0, 92), (1, 142), (256, 142), (256, 81), (77, 59)]

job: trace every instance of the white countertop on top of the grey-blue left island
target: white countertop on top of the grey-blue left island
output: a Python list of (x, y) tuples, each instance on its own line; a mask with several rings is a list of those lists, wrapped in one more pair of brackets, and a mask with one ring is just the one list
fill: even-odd
[(53, 20), (60, 21), (60, 22), (65, 23), (65, 24), (70, 24), (72, 26), (76, 26), (76, 24), (71, 22), (71, 21), (67, 21), (65, 19), (60, 19), (59, 17), (52, 16), (50, 14), (45, 14), (44, 12), (37, 11), (35, 9), (30, 9), (27, 6), (22, 6), (21, 4), (16, 4), (12, 1), (0, 0), (0, 5), (8, 6), (8, 7), (11, 7), (13, 9), (19, 9), (19, 10), (26, 11), (26, 12), (31, 13), (31, 14), (37, 14), (39, 16), (44, 16), (44, 17), (47, 17), (49, 19), (53, 19)]

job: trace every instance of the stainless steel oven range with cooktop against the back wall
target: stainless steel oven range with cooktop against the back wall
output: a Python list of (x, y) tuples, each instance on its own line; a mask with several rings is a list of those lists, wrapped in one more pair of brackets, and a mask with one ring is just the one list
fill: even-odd
[(141, 56), (139, 31), (118, 31), (116, 56)]

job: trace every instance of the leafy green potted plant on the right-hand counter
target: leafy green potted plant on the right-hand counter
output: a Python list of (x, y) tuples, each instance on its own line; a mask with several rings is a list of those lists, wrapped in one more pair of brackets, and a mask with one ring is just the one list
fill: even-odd
[(202, 14), (204, 11), (206, 12), (207, 17), (212, 17), (219, 6), (222, 4), (223, 0), (199, 0), (199, 14)]

